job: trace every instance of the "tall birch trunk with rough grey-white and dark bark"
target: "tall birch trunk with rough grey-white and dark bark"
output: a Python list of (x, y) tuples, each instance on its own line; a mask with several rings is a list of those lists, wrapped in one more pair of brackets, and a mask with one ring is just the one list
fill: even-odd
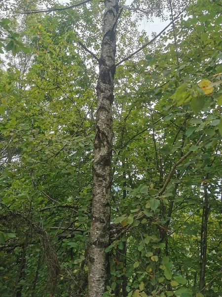
[(110, 201), (111, 201), (111, 147), (112, 102), (115, 74), (115, 29), (118, 0), (105, 0), (103, 41), (97, 84), (96, 137), (93, 163), (93, 201), (89, 246), (88, 297), (102, 297), (108, 279)]

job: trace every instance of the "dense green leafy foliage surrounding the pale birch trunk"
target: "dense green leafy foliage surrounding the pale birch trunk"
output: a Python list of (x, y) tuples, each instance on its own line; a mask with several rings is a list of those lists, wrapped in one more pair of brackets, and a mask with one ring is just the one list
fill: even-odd
[[(154, 2), (149, 16), (169, 8)], [(148, 11), (144, 1), (132, 7)], [(133, 13), (119, 18), (117, 62), (148, 41)], [(0, 22), (10, 39), (0, 40), (2, 297), (48, 296), (56, 258), (55, 296), (87, 296), (98, 76), (90, 52), (99, 56), (102, 14), (95, 0)], [(116, 68), (104, 297), (222, 294), (221, 25), (219, 1), (191, 1), (174, 30)]]

